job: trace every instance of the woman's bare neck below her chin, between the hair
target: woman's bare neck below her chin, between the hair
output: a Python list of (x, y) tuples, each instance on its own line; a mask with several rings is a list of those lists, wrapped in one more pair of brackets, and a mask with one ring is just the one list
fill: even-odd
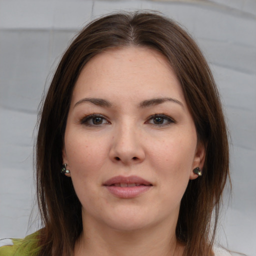
[[(88, 222), (87, 222), (88, 223)], [(181, 256), (183, 246), (175, 238), (175, 225), (166, 223), (120, 231), (90, 223), (75, 244), (75, 256)]]

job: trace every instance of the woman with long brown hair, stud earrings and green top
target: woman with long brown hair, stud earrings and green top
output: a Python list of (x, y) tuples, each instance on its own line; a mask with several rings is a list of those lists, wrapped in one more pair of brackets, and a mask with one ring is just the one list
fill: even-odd
[(36, 171), (43, 228), (0, 255), (227, 253), (213, 249), (229, 179), (221, 104), (170, 19), (117, 13), (78, 34), (41, 108)]

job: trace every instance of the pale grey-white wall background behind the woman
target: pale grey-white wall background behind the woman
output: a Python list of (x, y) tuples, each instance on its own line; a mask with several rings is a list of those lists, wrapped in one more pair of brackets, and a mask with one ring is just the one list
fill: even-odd
[(210, 63), (232, 136), (233, 194), (219, 240), (256, 255), (256, 0), (0, 0), (0, 237), (23, 237), (36, 228), (27, 229), (33, 129), (62, 51), (88, 20), (141, 8), (183, 24)]

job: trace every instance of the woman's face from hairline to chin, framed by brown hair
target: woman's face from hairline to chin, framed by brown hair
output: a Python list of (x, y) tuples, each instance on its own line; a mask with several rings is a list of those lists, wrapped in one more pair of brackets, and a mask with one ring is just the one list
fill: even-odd
[(142, 47), (93, 57), (75, 84), (63, 162), (83, 221), (118, 230), (175, 225), (193, 168), (203, 165), (181, 86), (160, 53)]

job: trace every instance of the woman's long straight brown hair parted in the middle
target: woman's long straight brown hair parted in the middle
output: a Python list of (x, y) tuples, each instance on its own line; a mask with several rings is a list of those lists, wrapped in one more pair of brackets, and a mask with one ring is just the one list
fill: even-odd
[(228, 139), (221, 103), (196, 43), (173, 20), (155, 12), (116, 13), (92, 21), (59, 62), (41, 109), (36, 146), (37, 198), (44, 226), (39, 234), (40, 255), (72, 255), (82, 231), (80, 202), (71, 180), (60, 174), (63, 134), (74, 84), (93, 56), (109, 48), (129, 46), (146, 46), (161, 52), (182, 86), (206, 157), (203, 175), (189, 180), (182, 197), (176, 238), (185, 245), (184, 255), (212, 255), (221, 194), (229, 178)]

